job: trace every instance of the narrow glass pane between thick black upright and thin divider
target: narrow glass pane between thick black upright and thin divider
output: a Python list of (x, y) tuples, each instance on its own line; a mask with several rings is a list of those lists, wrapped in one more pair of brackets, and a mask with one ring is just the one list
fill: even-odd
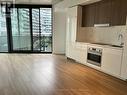
[(40, 51), (39, 9), (32, 9), (33, 50)]

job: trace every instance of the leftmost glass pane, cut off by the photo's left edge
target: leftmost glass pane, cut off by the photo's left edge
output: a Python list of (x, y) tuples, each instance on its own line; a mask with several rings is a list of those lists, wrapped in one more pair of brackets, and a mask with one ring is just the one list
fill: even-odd
[(8, 51), (6, 17), (2, 14), (5, 8), (0, 8), (0, 52)]

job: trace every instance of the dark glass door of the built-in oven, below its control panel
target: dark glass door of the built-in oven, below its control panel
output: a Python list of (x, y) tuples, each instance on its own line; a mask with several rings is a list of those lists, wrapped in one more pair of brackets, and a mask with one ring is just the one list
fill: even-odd
[(101, 66), (101, 54), (88, 52), (87, 62), (97, 66)]

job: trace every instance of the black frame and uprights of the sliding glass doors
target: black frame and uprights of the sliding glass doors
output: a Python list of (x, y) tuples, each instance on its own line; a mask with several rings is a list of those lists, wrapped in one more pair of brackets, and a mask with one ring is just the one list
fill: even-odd
[[(14, 4), (14, 5), (11, 5), (10, 8), (13, 8), (13, 6), (14, 6), (14, 8), (28, 8), (30, 10), (29, 11), (29, 14), (30, 14), (29, 19), (30, 19), (31, 50), (13, 50), (11, 18), (6, 16), (8, 53), (52, 53), (52, 52), (41, 52), (41, 50), (40, 51), (33, 50), (33, 30), (32, 30), (32, 9), (37, 8), (40, 11), (40, 8), (51, 8), (51, 10), (52, 10), (52, 5)], [(7, 10), (8, 9), (6, 8), (6, 12), (10, 15), (10, 12), (8, 12)], [(39, 13), (39, 16), (40, 16), (40, 13)], [(53, 16), (53, 11), (52, 11), (52, 16)], [(39, 23), (40, 23), (40, 21), (39, 21)], [(40, 27), (40, 25), (39, 25), (39, 27)], [(40, 32), (40, 28), (39, 28), (39, 32)], [(53, 37), (53, 25), (52, 25), (52, 37)], [(53, 46), (53, 39), (51, 39), (51, 40), (52, 40), (52, 46)]]

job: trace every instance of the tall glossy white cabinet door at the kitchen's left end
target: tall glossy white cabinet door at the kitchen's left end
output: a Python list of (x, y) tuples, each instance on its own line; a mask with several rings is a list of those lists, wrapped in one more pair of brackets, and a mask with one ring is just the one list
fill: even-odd
[(68, 9), (66, 30), (66, 56), (75, 59), (75, 41), (77, 32), (77, 6)]

